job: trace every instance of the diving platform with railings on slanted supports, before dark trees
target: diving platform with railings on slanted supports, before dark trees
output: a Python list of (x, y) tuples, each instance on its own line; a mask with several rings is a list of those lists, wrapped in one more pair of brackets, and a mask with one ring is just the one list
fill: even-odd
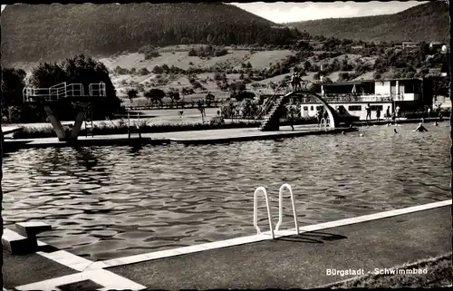
[[(67, 84), (62, 82), (50, 88), (25, 87), (23, 91), (24, 102), (43, 104), (44, 111), (51, 121), (53, 131), (57, 134), (59, 141), (76, 141), (81, 131), (82, 123), (85, 121), (85, 129), (92, 134), (92, 101), (97, 98), (107, 97), (105, 83), (90, 83), (89, 94), (83, 91), (82, 83)], [(54, 104), (60, 100), (72, 102), (76, 108), (77, 115), (71, 132), (66, 132), (62, 122), (54, 111)]]

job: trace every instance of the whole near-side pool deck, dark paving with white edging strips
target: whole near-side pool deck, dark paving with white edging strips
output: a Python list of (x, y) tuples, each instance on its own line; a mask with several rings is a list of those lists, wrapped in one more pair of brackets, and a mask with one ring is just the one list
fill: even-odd
[[(265, 224), (265, 222), (263, 222)], [(329, 276), (326, 269), (373, 272), (451, 251), (451, 199), (300, 228), (203, 245), (93, 262), (75, 268), (70, 256), (41, 253), (5, 256), (6, 288), (217, 289), (314, 288), (352, 276)], [(233, 240), (237, 244), (232, 244)], [(248, 243), (247, 243), (248, 242)], [(198, 251), (195, 250), (198, 248)], [(64, 253), (64, 251), (60, 251)], [(163, 252), (160, 252), (162, 255)], [(171, 257), (170, 257), (171, 256)], [(53, 257), (50, 259), (50, 257)], [(135, 261), (135, 263), (133, 263)], [(58, 265), (61, 264), (60, 268)], [(72, 266), (72, 267), (71, 267)], [(69, 268), (69, 269), (68, 269)], [(71, 270), (72, 268), (72, 270)], [(54, 270), (43, 274), (36, 270)], [(82, 272), (81, 272), (82, 271)], [(79, 282), (79, 283), (77, 283)], [(79, 285), (77, 285), (79, 284)], [(71, 288), (65, 287), (64, 290)]]

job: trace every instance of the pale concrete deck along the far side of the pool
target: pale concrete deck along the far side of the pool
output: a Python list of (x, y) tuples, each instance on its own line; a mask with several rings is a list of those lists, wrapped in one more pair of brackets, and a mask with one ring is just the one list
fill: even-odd
[(209, 131), (173, 131), (159, 133), (142, 133), (139, 139), (138, 133), (132, 133), (130, 139), (128, 134), (97, 135), (94, 137), (80, 136), (76, 143), (58, 141), (57, 138), (24, 139), (5, 141), (6, 149), (31, 149), (49, 147), (72, 147), (77, 146), (101, 146), (101, 145), (127, 145), (133, 144), (168, 144), (179, 142), (185, 144), (218, 143), (230, 141), (256, 141), (266, 139), (294, 138), (313, 134), (335, 134), (342, 131), (358, 131), (355, 128), (337, 128), (323, 130), (312, 126), (295, 125), (294, 131), (289, 126), (280, 127), (280, 131), (259, 131), (256, 128), (240, 128)]

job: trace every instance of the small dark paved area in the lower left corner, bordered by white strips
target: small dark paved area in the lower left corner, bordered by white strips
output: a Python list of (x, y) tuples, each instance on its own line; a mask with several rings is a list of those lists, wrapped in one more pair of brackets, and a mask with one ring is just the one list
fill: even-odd
[(12, 256), (4, 251), (3, 279), (7, 289), (74, 273), (78, 272), (37, 254)]

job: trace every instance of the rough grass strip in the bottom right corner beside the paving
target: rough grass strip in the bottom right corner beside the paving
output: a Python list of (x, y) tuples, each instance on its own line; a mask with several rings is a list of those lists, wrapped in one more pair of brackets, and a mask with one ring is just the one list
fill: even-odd
[(427, 274), (365, 275), (336, 283), (328, 288), (432, 288), (451, 286), (451, 253), (407, 263), (394, 269), (426, 269)]

